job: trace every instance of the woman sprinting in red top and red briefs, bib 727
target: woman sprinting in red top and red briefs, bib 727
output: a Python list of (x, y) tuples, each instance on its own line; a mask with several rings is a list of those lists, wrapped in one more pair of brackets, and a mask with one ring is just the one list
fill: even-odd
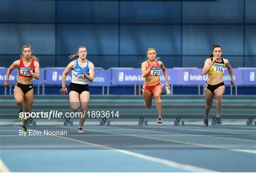
[(152, 106), (152, 97), (154, 95), (156, 101), (156, 109), (158, 113), (157, 123), (162, 124), (162, 100), (160, 95), (163, 92), (163, 85), (160, 83), (160, 72), (161, 68), (164, 72), (165, 83), (168, 87), (168, 90), (171, 89), (168, 83), (168, 74), (164, 64), (161, 61), (156, 61), (156, 51), (154, 48), (148, 48), (146, 51), (147, 61), (143, 62), (141, 65), (142, 77), (145, 78), (143, 84), (143, 95), (145, 100), (145, 106), (147, 109), (150, 109)]

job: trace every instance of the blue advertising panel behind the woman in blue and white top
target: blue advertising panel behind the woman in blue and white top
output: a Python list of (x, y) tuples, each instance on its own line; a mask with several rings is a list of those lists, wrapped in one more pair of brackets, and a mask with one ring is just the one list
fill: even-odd
[[(61, 85), (64, 67), (46, 68), (46, 84)], [(71, 82), (72, 72), (66, 76), (66, 85)], [(109, 70), (95, 70), (94, 81), (89, 83), (91, 86), (111, 86), (111, 72)]]

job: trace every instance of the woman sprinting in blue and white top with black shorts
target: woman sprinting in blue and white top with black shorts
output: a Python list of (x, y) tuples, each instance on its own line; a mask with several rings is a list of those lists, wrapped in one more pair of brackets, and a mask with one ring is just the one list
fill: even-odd
[(72, 80), (69, 85), (70, 107), (73, 111), (77, 111), (81, 108), (83, 115), (80, 117), (78, 133), (83, 133), (82, 126), (86, 118), (90, 98), (88, 81), (93, 82), (94, 79), (94, 65), (86, 59), (86, 56), (87, 49), (85, 46), (78, 47), (77, 54), (70, 56), (71, 59), (76, 59), (69, 63), (62, 73), (62, 89), (60, 90), (63, 95), (66, 95), (66, 75), (72, 70)]

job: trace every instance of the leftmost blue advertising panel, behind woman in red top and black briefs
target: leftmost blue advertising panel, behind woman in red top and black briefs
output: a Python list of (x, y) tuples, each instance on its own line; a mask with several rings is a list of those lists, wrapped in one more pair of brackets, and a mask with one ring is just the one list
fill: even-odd
[[(7, 70), (8, 70), (8, 68), (0, 68), (0, 85), (3, 85), (3, 83), (4, 83)], [(17, 76), (18, 76), (18, 70), (13, 69), (11, 71), (11, 74), (9, 75), (8, 83), (11, 85), (16, 84)], [(40, 68), (40, 77), (38, 80), (33, 78), (33, 84), (34, 85), (43, 85), (44, 82), (45, 82), (45, 71), (44, 71), (44, 68)]]

